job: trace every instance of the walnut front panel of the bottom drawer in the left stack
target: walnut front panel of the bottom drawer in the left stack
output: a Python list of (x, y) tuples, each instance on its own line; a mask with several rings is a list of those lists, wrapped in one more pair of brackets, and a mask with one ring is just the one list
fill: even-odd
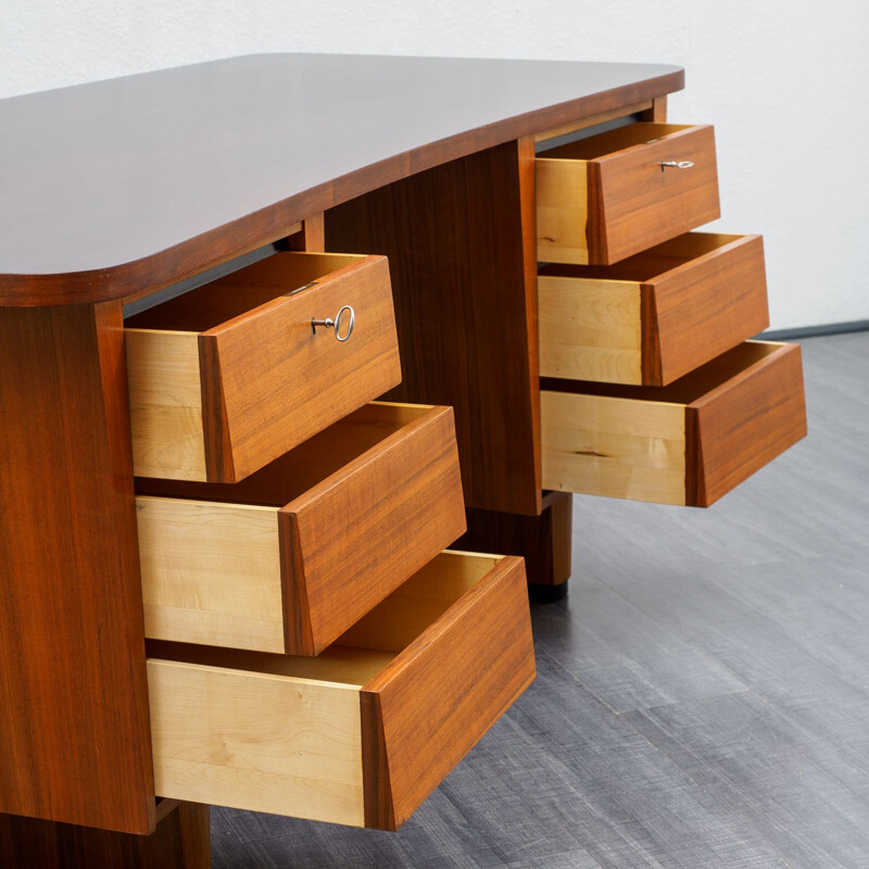
[(505, 557), (364, 685), (366, 826), (401, 827), (533, 678), (525, 569)]

